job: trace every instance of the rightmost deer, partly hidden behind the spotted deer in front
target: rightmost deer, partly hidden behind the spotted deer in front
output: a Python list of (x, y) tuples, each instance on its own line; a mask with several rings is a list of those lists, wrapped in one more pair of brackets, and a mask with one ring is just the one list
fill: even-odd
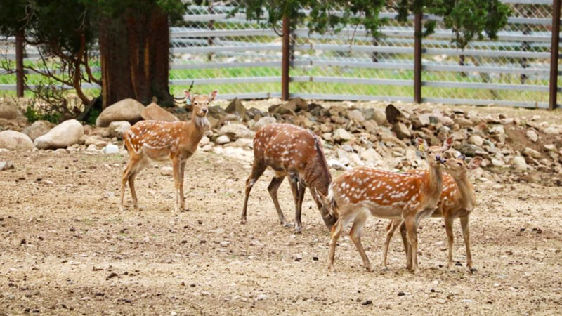
[[(440, 201), (436, 211), (431, 214), (433, 218), (443, 218), (445, 220), (445, 232), (447, 232), (448, 257), (447, 269), (452, 270), (452, 246), (454, 243), (454, 235), (452, 233), (453, 220), (459, 218), (462, 228), (462, 236), (464, 238), (464, 246), (466, 247), (466, 265), (470, 272), (476, 272), (472, 263), (472, 255), (470, 251), (470, 232), (469, 232), (469, 216), (476, 206), (476, 195), (474, 195), (474, 187), (472, 186), (467, 171), (476, 169), (480, 166), (482, 159), (475, 157), (471, 159), (467, 165), (464, 162), (464, 155), (459, 155), (456, 159), (448, 159), (445, 163), (445, 175), (443, 177), (443, 192), (441, 192)], [(418, 172), (419, 176), (423, 176), (424, 171)], [(407, 256), (409, 247), (407, 246), (405, 224), (401, 220), (392, 220), (386, 228), (386, 241), (383, 251), (383, 267), (386, 269), (386, 258), (388, 254), (388, 244), (390, 244), (392, 235), (396, 228), (400, 228), (400, 235)]]

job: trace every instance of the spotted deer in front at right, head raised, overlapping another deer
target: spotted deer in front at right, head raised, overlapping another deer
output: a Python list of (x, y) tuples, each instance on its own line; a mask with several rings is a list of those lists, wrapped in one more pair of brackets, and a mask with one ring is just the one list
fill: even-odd
[(322, 204), (337, 218), (329, 242), (328, 270), (334, 269), (336, 245), (347, 223), (353, 221), (349, 232), (359, 251), (363, 266), (370, 272), (372, 265), (361, 244), (361, 232), (367, 216), (403, 220), (407, 230), (408, 270), (417, 273), (417, 228), (420, 220), (437, 208), (443, 191), (443, 153), (452, 145), (452, 137), (442, 146), (428, 147), (425, 140), (417, 138), (419, 150), (429, 163), (424, 176), (396, 173), (370, 167), (348, 170), (329, 186), (328, 195), (318, 192)]

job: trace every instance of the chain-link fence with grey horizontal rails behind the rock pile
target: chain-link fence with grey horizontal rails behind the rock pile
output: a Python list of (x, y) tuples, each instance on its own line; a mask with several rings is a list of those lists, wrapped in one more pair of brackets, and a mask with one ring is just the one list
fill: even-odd
[[(452, 44), (440, 18), (424, 15), (438, 27), (422, 40), (422, 101), (548, 107), (552, 1), (502, 1), (511, 16), (498, 39), (464, 50)], [(189, 6), (186, 26), (171, 28), (172, 92), (179, 96), (193, 83), (200, 93), (218, 88), (222, 98), (281, 96), (282, 26), (248, 21), (233, 13), (233, 1), (211, 4)], [(412, 101), (414, 18), (398, 23), (395, 15), (381, 13), (388, 20), (379, 39), (361, 27), (335, 34), (292, 29), (290, 96)], [(14, 83), (13, 74), (0, 75), (0, 86)]]

